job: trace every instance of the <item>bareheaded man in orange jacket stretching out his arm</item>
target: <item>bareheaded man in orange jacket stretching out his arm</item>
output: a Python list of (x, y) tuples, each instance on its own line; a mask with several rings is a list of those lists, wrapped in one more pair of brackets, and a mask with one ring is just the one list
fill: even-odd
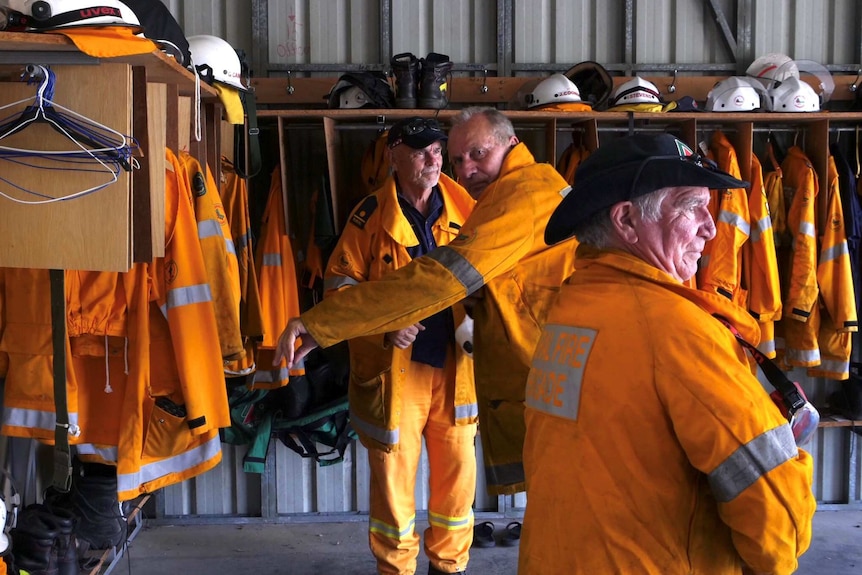
[[(574, 270), (574, 240), (545, 245), (545, 222), (569, 185), (518, 142), (493, 108), (465, 108), (453, 119), (449, 159), (473, 197), (461, 233), (381, 281), (334, 294), (288, 322), (276, 357), (298, 361), (318, 343), (402, 329), (482, 288), (473, 309), (473, 361), (479, 435), (488, 491), (524, 490), (524, 383), (540, 325)], [(481, 194), (481, 196), (480, 196)], [(302, 335), (302, 345), (294, 350)]]

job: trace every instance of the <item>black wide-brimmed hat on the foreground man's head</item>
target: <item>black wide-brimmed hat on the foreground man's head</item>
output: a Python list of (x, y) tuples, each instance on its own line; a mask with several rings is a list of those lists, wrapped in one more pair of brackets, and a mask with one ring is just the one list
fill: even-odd
[(670, 134), (611, 140), (578, 166), (574, 187), (548, 220), (545, 243), (572, 237), (590, 217), (616, 203), (675, 186), (727, 190), (747, 188), (749, 183), (719, 170)]

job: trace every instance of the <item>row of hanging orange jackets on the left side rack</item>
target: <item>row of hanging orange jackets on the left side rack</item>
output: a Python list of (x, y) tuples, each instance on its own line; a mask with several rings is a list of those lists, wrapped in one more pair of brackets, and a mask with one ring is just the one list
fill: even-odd
[[(116, 466), (121, 501), (221, 461), (226, 378), (273, 388), (304, 373), (272, 366), (299, 313), (280, 175), (255, 246), (246, 181), (226, 159), (221, 173), (219, 185), (187, 152), (166, 150), (164, 257), (125, 273), (64, 272), (69, 442), (80, 459)], [(48, 444), (50, 300), (47, 270), (0, 268), (0, 432)]]

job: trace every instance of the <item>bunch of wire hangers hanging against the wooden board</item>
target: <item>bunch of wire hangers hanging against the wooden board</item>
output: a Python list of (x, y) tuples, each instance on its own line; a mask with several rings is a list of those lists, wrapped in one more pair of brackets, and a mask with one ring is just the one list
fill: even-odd
[[(4, 110), (31, 102), (23, 111), (0, 120), (0, 160), (34, 169), (104, 173), (108, 179), (85, 190), (53, 197), (44, 192), (28, 190), (0, 175), (0, 181), (23, 192), (27, 199), (11, 196), (3, 191), (0, 191), (0, 196), (23, 204), (71, 200), (113, 184), (122, 170), (131, 171), (133, 166), (137, 166), (137, 161), (132, 158), (133, 150), (138, 148), (134, 138), (82, 116), (53, 100), (56, 81), (53, 71), (45, 66), (30, 65), (27, 66), (22, 79), (25, 76), (28, 76), (28, 84), (37, 80), (40, 84), (35, 96), (0, 106), (0, 110)], [(71, 149), (27, 149), (3, 145), (4, 139), (34, 124), (49, 125), (74, 146)], [(0, 171), (0, 174), (2, 173)], [(38, 199), (32, 199), (34, 197)]]

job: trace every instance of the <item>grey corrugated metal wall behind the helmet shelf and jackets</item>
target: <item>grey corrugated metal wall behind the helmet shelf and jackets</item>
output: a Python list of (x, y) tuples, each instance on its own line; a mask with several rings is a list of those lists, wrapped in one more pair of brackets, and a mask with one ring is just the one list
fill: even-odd
[[(448, 54), (457, 73), (508, 71), (545, 74), (583, 60), (618, 70), (744, 70), (758, 55), (783, 52), (833, 69), (860, 61), (856, 0), (165, 0), (187, 35), (215, 34), (249, 54), (258, 75), (334, 76), (350, 66), (386, 69), (388, 56)], [(383, 10), (381, 11), (381, 6)], [(725, 40), (711, 6), (726, 18), (735, 44)], [(265, 30), (253, 21), (265, 8)], [(626, 26), (630, 18), (631, 26)], [(388, 23), (383, 28), (382, 23)], [(261, 38), (264, 46), (255, 45)], [(739, 63), (737, 63), (739, 62)], [(613, 65), (613, 66), (611, 66)], [(325, 163), (319, 130), (297, 131), (296, 165)], [(314, 185), (306, 182), (307, 185)], [(302, 237), (302, 236), (300, 236)], [(815, 399), (830, 382), (800, 377)], [(822, 429), (809, 446), (816, 460), (815, 495), (824, 503), (862, 501), (862, 437)], [(317, 467), (273, 441), (263, 475), (242, 471), (245, 448), (224, 446), (215, 470), (162, 490), (161, 511), (191, 520), (250, 517), (271, 521), (339, 518), (367, 510), (365, 451), (354, 445), (343, 464)], [(481, 461), (481, 447), (477, 447)], [(417, 505), (427, 502), (427, 459), (417, 482)], [(476, 509), (507, 513), (525, 497), (492, 498), (479, 477)]]

